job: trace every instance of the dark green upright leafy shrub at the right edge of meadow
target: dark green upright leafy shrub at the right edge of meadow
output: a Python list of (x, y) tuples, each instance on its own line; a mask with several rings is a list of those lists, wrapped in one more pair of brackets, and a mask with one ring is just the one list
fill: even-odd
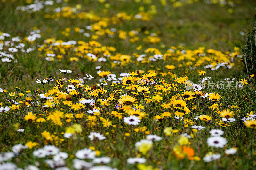
[[(256, 15), (255, 15), (255, 18), (256, 18)], [(244, 72), (246, 74), (256, 73), (256, 43), (255, 42), (256, 42), (256, 21), (254, 21), (252, 32), (250, 32), (250, 29), (249, 29), (249, 32), (246, 38), (246, 44), (242, 49)]]

